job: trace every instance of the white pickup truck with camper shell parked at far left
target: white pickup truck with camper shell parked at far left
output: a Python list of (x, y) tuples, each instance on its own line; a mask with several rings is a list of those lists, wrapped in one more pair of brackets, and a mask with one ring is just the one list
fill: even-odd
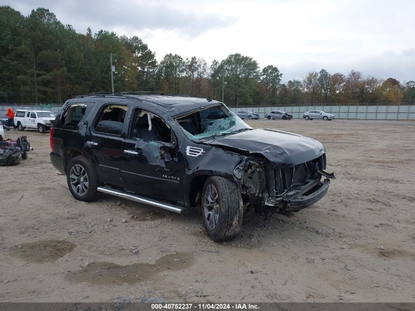
[(44, 134), (49, 131), (55, 121), (55, 113), (44, 110), (16, 110), (14, 115), (14, 124), (20, 131), (28, 129), (37, 129), (39, 133)]

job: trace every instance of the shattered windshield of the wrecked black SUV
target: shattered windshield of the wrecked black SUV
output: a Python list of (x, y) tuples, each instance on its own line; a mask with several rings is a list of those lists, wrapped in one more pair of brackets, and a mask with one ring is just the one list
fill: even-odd
[(176, 120), (186, 135), (196, 141), (252, 129), (223, 104), (196, 111)]

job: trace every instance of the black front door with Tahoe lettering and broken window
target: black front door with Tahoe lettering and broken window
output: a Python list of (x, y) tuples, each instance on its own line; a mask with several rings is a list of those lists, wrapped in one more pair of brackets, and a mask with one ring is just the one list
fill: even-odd
[[(172, 130), (159, 116), (137, 108), (122, 143), (120, 175), (125, 189), (145, 197), (183, 203), (184, 158)], [(173, 139), (173, 141), (172, 141)]]

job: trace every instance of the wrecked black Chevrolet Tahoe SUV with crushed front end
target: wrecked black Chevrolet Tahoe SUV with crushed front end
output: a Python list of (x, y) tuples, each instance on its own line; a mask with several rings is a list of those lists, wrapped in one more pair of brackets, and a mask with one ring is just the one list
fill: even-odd
[(323, 171), (322, 143), (252, 129), (210, 97), (78, 96), (60, 109), (50, 142), (52, 164), (76, 199), (106, 193), (177, 213), (200, 205), (215, 241), (238, 234), (244, 205), (290, 217), (322, 198), (334, 178)]

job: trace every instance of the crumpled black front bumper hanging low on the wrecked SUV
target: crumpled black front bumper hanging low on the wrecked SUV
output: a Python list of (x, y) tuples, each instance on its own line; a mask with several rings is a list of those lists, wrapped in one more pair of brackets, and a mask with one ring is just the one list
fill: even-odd
[[(313, 205), (315, 202), (323, 198), (329, 190), (330, 179), (325, 178), (323, 182), (319, 182), (317, 185), (307, 189), (302, 194), (293, 194), (292, 196), (285, 198), (287, 201), (288, 211), (299, 211), (303, 208)], [(313, 192), (310, 192), (313, 190)]]

